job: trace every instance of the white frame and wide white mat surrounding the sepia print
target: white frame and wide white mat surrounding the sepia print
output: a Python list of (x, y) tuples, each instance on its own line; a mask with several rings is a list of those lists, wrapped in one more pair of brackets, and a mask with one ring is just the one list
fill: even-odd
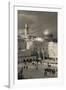
[[(57, 86), (64, 83), (64, 59), (63, 59), (63, 8), (50, 5), (25, 6), (21, 3), (9, 3), (10, 7), (10, 62), (9, 62), (9, 87), (33, 87), (33, 86)], [(58, 13), (58, 78), (49, 79), (17, 79), (17, 10), (49, 11)]]

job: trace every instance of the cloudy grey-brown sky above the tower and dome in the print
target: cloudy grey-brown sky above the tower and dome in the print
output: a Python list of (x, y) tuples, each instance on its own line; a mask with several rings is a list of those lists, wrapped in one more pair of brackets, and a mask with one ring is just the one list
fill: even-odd
[(28, 24), (29, 34), (42, 36), (45, 31), (57, 39), (57, 12), (18, 11), (18, 30)]

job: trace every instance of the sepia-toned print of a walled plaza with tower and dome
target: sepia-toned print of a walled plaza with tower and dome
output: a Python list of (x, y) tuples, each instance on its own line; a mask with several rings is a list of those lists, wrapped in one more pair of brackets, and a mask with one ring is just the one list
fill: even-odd
[(17, 11), (17, 78), (58, 77), (57, 12)]

